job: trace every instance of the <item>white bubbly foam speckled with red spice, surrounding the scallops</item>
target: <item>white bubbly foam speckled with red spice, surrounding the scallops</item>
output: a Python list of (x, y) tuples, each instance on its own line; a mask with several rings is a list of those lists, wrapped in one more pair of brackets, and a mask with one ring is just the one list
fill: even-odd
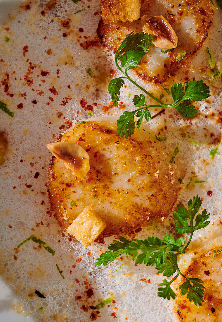
[[(111, 53), (102, 49), (97, 39), (98, 1), (75, 4), (71, 0), (59, 0), (51, 1), (51, 5), (49, 9), (44, 1), (22, 3), (17, 10), (11, 10), (0, 27), (0, 99), (14, 111), (14, 118), (10, 118), (0, 110), (0, 130), (8, 138), (0, 180), (1, 274), (18, 295), (23, 314), (33, 316), (36, 321), (93, 321), (95, 318), (112, 321), (116, 317), (115, 321), (173, 322), (170, 302), (157, 297), (158, 283), (163, 278), (156, 275), (153, 267), (137, 266), (131, 257), (122, 256), (122, 260), (106, 268), (95, 268), (95, 259), (114, 237), (107, 238), (105, 245), (84, 248), (60, 234), (50, 212), (45, 183), (51, 155), (46, 144), (64, 133), (70, 121), (74, 125), (91, 115), (108, 118), (124, 111), (109, 106), (108, 83), (117, 68)], [(82, 9), (85, 10), (74, 14)], [(190, 79), (196, 77), (208, 84), (208, 80), (212, 81), (207, 74), (199, 74), (200, 68), (209, 67), (207, 46), (214, 52), (218, 68), (222, 67), (222, 36), (218, 25), (221, 25), (220, 9), (215, 10), (206, 43), (187, 67)], [(10, 40), (5, 42), (5, 37)], [(136, 79), (133, 73), (130, 75)], [(132, 98), (139, 91), (129, 83), (126, 85), (120, 100), (125, 110), (131, 110), (134, 109)], [(161, 93), (159, 88), (143, 86), (156, 96)], [(184, 119), (169, 109), (151, 120), (150, 127), (156, 129), (156, 135), (167, 137), (167, 144), (180, 147), (186, 176), (178, 202), (186, 204), (198, 193), (203, 209), (208, 209), (214, 222), (218, 221), (222, 208), (221, 147), (214, 159), (209, 155), (220, 141), (219, 80), (214, 81), (211, 93), (214, 95), (201, 103), (198, 118)], [(157, 111), (153, 110), (152, 114)], [(195, 183), (195, 180), (205, 182)], [(161, 238), (165, 230), (172, 233), (172, 226), (171, 215), (163, 222), (154, 221), (141, 232), (128, 232), (126, 237)], [(55, 255), (31, 240), (16, 249), (31, 235), (46, 242), (55, 250)], [(45, 298), (37, 297), (35, 290)], [(116, 298), (110, 306), (94, 312), (94, 317), (89, 306), (111, 296)]]

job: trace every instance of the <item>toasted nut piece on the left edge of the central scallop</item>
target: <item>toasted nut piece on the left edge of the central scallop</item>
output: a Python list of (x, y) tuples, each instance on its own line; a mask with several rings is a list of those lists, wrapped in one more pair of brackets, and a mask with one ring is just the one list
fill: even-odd
[(71, 142), (49, 143), (47, 147), (78, 178), (83, 179), (86, 176), (90, 169), (89, 155), (83, 147)]

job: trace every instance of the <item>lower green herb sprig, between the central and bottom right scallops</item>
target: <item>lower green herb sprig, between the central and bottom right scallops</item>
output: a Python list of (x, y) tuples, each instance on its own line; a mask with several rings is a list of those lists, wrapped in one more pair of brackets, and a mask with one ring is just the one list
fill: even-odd
[(147, 237), (145, 240), (128, 240), (121, 237), (119, 241), (113, 241), (108, 247), (108, 251), (105, 251), (99, 256), (95, 267), (102, 264), (106, 266), (123, 254), (131, 255), (132, 259), (136, 261), (136, 264), (144, 263), (147, 266), (155, 265), (158, 273), (163, 273), (164, 276), (170, 277), (176, 273), (170, 281), (164, 279), (163, 283), (159, 284), (159, 297), (174, 299), (176, 294), (170, 285), (181, 275), (185, 279), (185, 282), (180, 286), (182, 294), (187, 294), (189, 301), (193, 301), (195, 305), (202, 305), (204, 296), (203, 281), (201, 279), (186, 277), (182, 274), (177, 264), (177, 255), (185, 253), (194, 231), (204, 228), (210, 223), (207, 221), (209, 213), (206, 209), (196, 216), (200, 206), (201, 200), (197, 195), (188, 201), (187, 208), (179, 204), (177, 210), (173, 212), (174, 231), (176, 233), (190, 233), (190, 238), (185, 245), (185, 239), (183, 237), (174, 239), (167, 232), (165, 232), (163, 239)]

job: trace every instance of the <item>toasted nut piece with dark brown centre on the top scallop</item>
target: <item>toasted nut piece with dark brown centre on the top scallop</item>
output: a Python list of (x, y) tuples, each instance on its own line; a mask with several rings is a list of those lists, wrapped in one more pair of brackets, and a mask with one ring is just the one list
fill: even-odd
[(163, 16), (141, 17), (142, 28), (145, 33), (153, 36), (152, 43), (155, 47), (172, 49), (177, 46), (177, 35), (171, 25)]

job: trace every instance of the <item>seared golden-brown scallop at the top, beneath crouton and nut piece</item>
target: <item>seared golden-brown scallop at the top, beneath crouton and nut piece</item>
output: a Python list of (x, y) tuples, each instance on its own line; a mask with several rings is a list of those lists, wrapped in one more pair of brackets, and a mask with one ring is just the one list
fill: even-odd
[[(209, 0), (141, 1), (140, 17), (163, 16), (175, 32), (179, 46), (172, 52), (165, 54), (161, 52), (161, 49), (155, 46), (151, 47), (150, 51), (141, 59), (139, 66), (135, 68), (136, 74), (142, 80), (155, 84), (174, 76), (203, 45), (212, 25), (213, 13), (214, 7)], [(130, 32), (141, 32), (142, 27), (141, 20), (103, 24), (101, 19), (97, 34), (102, 45), (115, 53)], [(182, 51), (185, 51), (186, 55), (179, 62), (176, 57)]]

